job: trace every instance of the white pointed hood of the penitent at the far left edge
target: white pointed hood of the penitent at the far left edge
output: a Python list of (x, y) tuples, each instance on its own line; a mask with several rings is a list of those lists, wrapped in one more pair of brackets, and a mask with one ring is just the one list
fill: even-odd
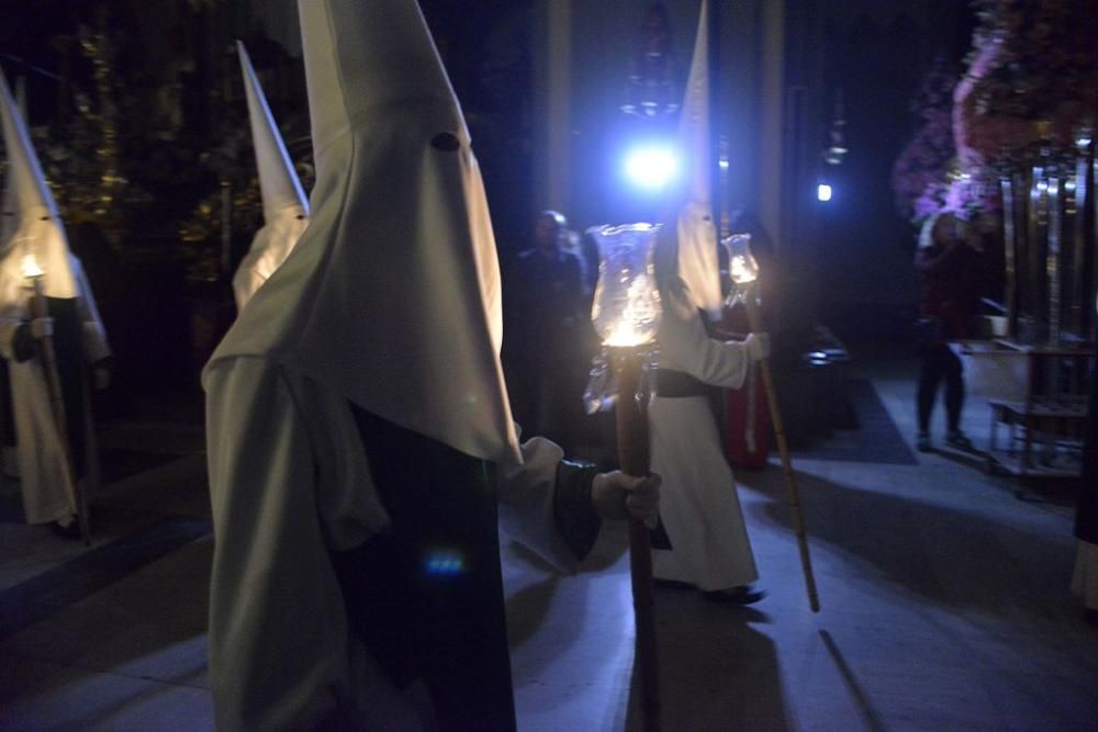
[[(27, 256), (33, 256), (45, 273), (42, 288), (47, 296), (76, 297), (76, 278), (69, 262), (65, 228), (57, 215), (57, 204), (46, 185), (38, 156), (31, 146), (31, 136), (3, 74), (0, 74), (0, 123), (16, 219), (15, 232), (3, 251), (5, 275), (19, 277), (15, 268), (21, 268)], [(8, 272), (9, 268), (12, 271)]]

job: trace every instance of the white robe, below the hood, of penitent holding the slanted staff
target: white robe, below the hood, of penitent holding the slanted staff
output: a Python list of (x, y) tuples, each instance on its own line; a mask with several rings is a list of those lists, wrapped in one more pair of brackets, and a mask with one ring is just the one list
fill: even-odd
[[(749, 365), (743, 345), (706, 335), (682, 280), (674, 278), (661, 295), (660, 368), (715, 386), (742, 385)], [(652, 552), (656, 577), (703, 590), (754, 582), (754, 555), (708, 397), (657, 394), (648, 409), (652, 472), (663, 477), (660, 516), (672, 543), (670, 551)]]

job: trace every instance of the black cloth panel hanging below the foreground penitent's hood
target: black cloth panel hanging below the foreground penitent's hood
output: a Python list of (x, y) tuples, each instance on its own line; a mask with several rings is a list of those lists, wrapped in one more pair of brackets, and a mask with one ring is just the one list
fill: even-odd
[(354, 405), (390, 534), (332, 552), (348, 620), (446, 731), (514, 730), (493, 466)]

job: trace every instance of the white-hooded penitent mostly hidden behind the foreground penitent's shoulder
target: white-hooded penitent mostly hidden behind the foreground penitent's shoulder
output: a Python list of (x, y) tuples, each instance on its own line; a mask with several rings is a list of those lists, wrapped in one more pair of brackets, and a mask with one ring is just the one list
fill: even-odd
[(293, 245), (309, 226), (309, 203), (248, 52), (239, 41), (236, 42), (236, 49), (240, 56), (244, 93), (251, 121), (251, 144), (259, 171), (259, 192), (264, 201), (264, 225), (256, 232), (248, 254), (233, 275), (233, 296), (239, 312), (290, 256)]

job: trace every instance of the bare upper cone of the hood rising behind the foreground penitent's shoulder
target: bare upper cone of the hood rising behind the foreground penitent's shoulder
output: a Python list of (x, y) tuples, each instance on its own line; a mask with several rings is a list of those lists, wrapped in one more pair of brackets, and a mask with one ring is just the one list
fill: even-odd
[(264, 219), (270, 224), (283, 209), (298, 206), (309, 215), (309, 204), (294, 172), (293, 161), (285, 151), (282, 135), (264, 95), (256, 70), (244, 44), (236, 42), (240, 56), (244, 92), (248, 99), (248, 119), (251, 121), (251, 144), (256, 148), (256, 167), (259, 169), (259, 191), (264, 196)]

